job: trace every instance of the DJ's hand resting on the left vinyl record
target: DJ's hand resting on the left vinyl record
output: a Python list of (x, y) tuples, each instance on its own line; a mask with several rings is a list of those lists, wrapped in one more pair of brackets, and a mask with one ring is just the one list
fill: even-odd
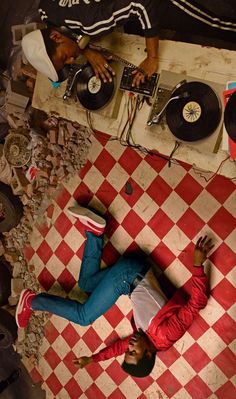
[(83, 50), (85, 58), (93, 68), (95, 75), (98, 79), (103, 82), (112, 82), (112, 76), (115, 75), (115, 71), (112, 69), (108, 60), (111, 60), (111, 56), (105, 56), (97, 50), (86, 48)]

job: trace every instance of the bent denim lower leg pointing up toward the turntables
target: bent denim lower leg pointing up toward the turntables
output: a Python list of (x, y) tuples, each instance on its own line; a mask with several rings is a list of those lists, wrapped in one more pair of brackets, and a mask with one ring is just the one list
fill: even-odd
[(78, 285), (83, 291), (92, 292), (107, 274), (108, 269), (100, 269), (103, 235), (96, 236), (86, 231), (86, 236)]

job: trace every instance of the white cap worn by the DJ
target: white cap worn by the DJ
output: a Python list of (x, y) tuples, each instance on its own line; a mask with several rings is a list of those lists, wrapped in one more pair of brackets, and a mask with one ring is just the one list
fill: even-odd
[(36, 29), (25, 35), (22, 39), (21, 45), (29, 63), (37, 71), (41, 72), (54, 82), (57, 82), (57, 71), (47, 54), (41, 30)]

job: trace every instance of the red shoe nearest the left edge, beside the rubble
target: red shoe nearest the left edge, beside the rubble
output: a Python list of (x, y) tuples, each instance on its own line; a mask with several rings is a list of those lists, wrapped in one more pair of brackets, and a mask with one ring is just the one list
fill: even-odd
[(31, 290), (23, 290), (16, 308), (16, 324), (19, 328), (25, 328), (32, 313), (31, 303), (36, 294)]

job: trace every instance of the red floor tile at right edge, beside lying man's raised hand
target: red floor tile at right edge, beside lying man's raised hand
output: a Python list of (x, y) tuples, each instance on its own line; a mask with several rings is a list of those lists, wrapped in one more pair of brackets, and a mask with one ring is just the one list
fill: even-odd
[(236, 254), (224, 242), (213, 252), (211, 261), (224, 275), (236, 265)]

